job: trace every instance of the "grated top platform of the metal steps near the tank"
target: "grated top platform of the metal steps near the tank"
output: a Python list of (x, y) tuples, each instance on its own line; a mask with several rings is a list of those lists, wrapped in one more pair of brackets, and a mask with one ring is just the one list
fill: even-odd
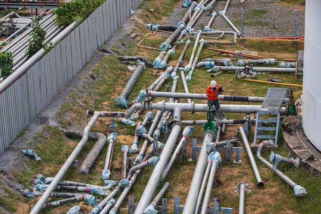
[(286, 88), (269, 88), (259, 111), (267, 111), (272, 114), (277, 114), (286, 92)]

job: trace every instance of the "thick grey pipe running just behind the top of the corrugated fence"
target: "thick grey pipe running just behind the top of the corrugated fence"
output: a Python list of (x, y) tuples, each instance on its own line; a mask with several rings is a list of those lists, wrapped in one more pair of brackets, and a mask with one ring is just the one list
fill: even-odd
[[(77, 27), (76, 23), (73, 22), (61, 33), (51, 41), (53, 45), (56, 45), (59, 41), (62, 41), (73, 29)], [(44, 49), (39, 50), (33, 56), (31, 56), (25, 63), (24, 66), (20, 66), (13, 73), (11, 73), (3, 82), (0, 83), (0, 93), (4, 92), (9, 86), (11, 86), (16, 80), (18, 80), (22, 75), (24, 75), (29, 68), (31, 68), (37, 61), (42, 59), (44, 56)]]

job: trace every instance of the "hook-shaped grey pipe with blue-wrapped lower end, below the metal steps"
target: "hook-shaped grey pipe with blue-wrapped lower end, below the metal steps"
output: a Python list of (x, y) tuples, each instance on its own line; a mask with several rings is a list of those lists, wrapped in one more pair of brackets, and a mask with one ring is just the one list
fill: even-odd
[(261, 156), (261, 152), (262, 152), (264, 147), (272, 148), (273, 146), (274, 146), (274, 142), (271, 141), (271, 140), (263, 141), (262, 143), (260, 143), (258, 145), (258, 148), (257, 148), (257, 151), (256, 151), (257, 159), (260, 162), (264, 163), (268, 168), (272, 169), (272, 171), (274, 171), (283, 181), (285, 181), (287, 184), (289, 184), (294, 190), (294, 196), (296, 196), (296, 197), (304, 196), (304, 194), (307, 194), (307, 190), (304, 187), (296, 184), (289, 177), (287, 177), (282, 171), (278, 170), (276, 167), (273, 167), (273, 165), (270, 162), (268, 162), (267, 160), (265, 160)]

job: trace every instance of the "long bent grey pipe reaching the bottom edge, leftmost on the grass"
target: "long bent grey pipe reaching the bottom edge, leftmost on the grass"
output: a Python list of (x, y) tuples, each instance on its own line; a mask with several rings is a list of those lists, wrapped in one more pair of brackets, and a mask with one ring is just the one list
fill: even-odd
[(59, 169), (59, 171), (57, 172), (55, 178), (52, 180), (52, 182), (48, 186), (47, 190), (44, 192), (44, 194), (37, 201), (37, 203), (35, 204), (33, 209), (30, 211), (30, 214), (38, 213), (41, 210), (41, 208), (43, 207), (43, 205), (46, 203), (46, 201), (50, 197), (50, 194), (56, 188), (56, 186), (58, 185), (59, 181), (62, 180), (62, 178), (64, 177), (65, 173), (67, 172), (67, 170), (69, 169), (71, 164), (74, 162), (74, 160), (77, 157), (77, 155), (79, 154), (79, 152), (82, 151), (85, 143), (88, 141), (89, 131), (91, 130), (91, 128), (93, 127), (95, 122), (98, 120), (98, 118), (99, 118), (99, 113), (98, 112), (94, 113), (94, 115), (92, 116), (91, 120), (89, 121), (89, 123), (87, 124), (87, 126), (84, 129), (83, 138), (81, 139), (81, 141), (79, 141), (78, 145), (71, 152), (70, 156), (68, 157), (68, 159), (66, 160), (66, 162), (64, 163), (62, 168)]

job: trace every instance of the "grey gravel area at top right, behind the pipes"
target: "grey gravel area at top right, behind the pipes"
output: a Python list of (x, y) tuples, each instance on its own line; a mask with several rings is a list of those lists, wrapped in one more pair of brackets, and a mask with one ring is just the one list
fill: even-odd
[[(210, 1), (208, 1), (210, 2)], [(185, 1), (179, 1), (177, 10), (172, 13), (163, 25), (177, 25), (182, 19), (182, 14), (186, 13), (186, 8), (182, 5)], [(218, 14), (224, 10), (227, 1), (216, 1), (211, 9), (217, 13), (211, 29), (233, 31), (230, 25)], [(206, 6), (206, 5), (205, 5)], [(296, 36), (304, 36), (304, 7), (282, 7), (275, 0), (247, 0), (240, 4), (239, 0), (231, 0), (227, 9), (226, 16), (232, 23), (239, 23), (235, 27), (241, 31), (240, 18), (241, 11), (244, 11), (244, 35), (246, 37), (280, 37), (294, 36), (294, 12), (296, 11)], [(260, 16), (254, 16), (252, 13), (262, 11)], [(264, 13), (264, 14), (263, 14)], [(210, 11), (204, 11), (195, 23), (194, 30), (204, 30), (210, 21)], [(254, 16), (254, 17), (253, 17)], [(274, 21), (273, 21), (274, 20)], [(262, 24), (263, 23), (263, 24)], [(274, 26), (273, 27), (273, 23)]]

